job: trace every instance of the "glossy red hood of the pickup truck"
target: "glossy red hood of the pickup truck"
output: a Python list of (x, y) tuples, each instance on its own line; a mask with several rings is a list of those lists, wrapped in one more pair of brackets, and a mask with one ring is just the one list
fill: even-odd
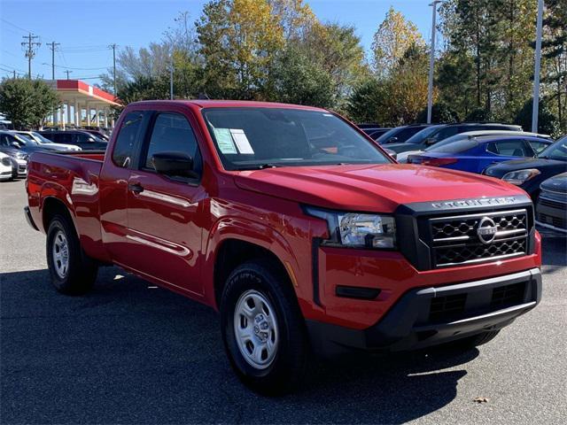
[(482, 175), (409, 164), (268, 168), (238, 172), (235, 183), (302, 204), (382, 213), (413, 202), (524, 194)]

